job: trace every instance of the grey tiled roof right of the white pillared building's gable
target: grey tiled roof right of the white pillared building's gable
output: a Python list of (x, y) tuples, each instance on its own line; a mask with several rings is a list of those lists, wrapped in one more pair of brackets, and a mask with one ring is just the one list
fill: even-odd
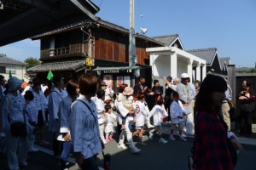
[(207, 61), (207, 65), (212, 65), (213, 59), (217, 54), (217, 48), (191, 49), (187, 50), (189, 54), (193, 54)]

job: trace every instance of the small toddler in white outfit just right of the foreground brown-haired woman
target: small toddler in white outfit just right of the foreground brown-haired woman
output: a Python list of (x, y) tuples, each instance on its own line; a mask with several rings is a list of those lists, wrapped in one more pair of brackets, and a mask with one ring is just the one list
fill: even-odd
[(113, 127), (113, 120), (116, 121), (117, 116), (113, 114), (111, 105), (105, 105), (105, 134), (106, 141), (110, 142), (113, 138), (113, 133), (115, 133)]

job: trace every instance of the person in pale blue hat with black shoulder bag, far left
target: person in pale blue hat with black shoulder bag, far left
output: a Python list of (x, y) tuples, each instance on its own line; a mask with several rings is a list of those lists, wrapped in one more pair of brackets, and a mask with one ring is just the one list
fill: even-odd
[[(9, 169), (20, 169), (26, 166), (26, 156), (28, 152), (28, 139), (26, 136), (13, 136), (10, 131), (12, 122), (25, 122), (25, 99), (18, 93), (23, 80), (17, 77), (10, 77), (8, 80), (8, 93), (3, 98), (3, 129), (6, 137), (6, 156)], [(26, 120), (27, 122), (28, 120)], [(19, 152), (18, 152), (19, 150)]]

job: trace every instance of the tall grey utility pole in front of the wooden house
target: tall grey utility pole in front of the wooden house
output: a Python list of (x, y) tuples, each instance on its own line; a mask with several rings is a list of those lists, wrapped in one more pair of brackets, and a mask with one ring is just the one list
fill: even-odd
[(134, 15), (134, 0), (130, 0), (129, 66), (135, 66), (137, 63), (137, 56), (135, 52)]

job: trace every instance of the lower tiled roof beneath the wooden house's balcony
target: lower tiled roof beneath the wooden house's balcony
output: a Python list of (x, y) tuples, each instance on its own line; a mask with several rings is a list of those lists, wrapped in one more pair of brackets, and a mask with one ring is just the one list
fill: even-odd
[(72, 60), (62, 62), (42, 63), (27, 69), (27, 72), (44, 72), (44, 71), (76, 71), (84, 65), (83, 60)]

